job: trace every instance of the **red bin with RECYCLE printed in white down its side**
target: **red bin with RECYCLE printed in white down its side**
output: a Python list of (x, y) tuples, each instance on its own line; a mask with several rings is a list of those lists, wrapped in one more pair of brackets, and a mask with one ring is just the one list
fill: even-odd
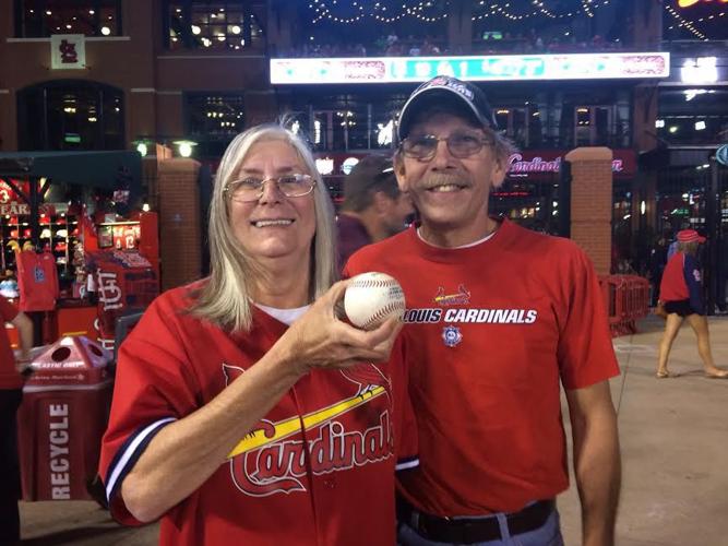
[(36, 356), (17, 412), (23, 500), (92, 500), (111, 406), (108, 351), (62, 337)]

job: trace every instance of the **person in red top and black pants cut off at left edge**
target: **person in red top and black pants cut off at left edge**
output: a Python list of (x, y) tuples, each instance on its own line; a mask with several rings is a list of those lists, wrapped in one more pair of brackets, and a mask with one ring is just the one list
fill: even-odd
[[(20, 542), (17, 500), (21, 492), (15, 414), (23, 399), (21, 372), (31, 360), (33, 322), (3, 296), (0, 296), (0, 544), (14, 545)], [(8, 337), (7, 322), (17, 330), (17, 361)]]

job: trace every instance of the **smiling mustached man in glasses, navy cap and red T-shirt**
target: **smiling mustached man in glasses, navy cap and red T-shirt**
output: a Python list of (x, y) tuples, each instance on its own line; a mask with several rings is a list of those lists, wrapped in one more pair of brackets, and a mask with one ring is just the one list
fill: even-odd
[(420, 221), (356, 252), (346, 275), (402, 284), (420, 467), (399, 473), (399, 542), (562, 544), (569, 403), (583, 543), (613, 544), (620, 487), (608, 379), (619, 373), (597, 277), (566, 239), (488, 215), (511, 144), (482, 92), (438, 76), (405, 103), (394, 157)]

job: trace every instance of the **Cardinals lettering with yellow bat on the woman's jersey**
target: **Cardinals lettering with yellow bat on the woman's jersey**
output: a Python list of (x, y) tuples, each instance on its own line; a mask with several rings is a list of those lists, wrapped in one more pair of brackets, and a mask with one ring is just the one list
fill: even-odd
[[(360, 364), (341, 372), (357, 385), (354, 395), (306, 415), (296, 414), (277, 422), (261, 419), (238, 442), (228, 458), (232, 480), (240, 491), (251, 497), (306, 491), (302, 478), (308, 472), (307, 464), (314, 475), (321, 475), (393, 455), (394, 436), (387, 410), (366, 429), (351, 429), (351, 419), (345, 417), (383, 394), (389, 399), (385, 404), (389, 408), (390, 380), (373, 364)], [(224, 364), (223, 373), (227, 385), (244, 370)]]

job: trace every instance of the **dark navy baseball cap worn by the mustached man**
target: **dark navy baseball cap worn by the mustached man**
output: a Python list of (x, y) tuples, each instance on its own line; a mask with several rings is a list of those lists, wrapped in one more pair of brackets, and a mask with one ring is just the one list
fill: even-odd
[(498, 130), (493, 111), (480, 87), (449, 75), (438, 75), (417, 87), (402, 107), (397, 124), (399, 140), (407, 136), (413, 121), (423, 107), (443, 103), (458, 106), (480, 126)]

